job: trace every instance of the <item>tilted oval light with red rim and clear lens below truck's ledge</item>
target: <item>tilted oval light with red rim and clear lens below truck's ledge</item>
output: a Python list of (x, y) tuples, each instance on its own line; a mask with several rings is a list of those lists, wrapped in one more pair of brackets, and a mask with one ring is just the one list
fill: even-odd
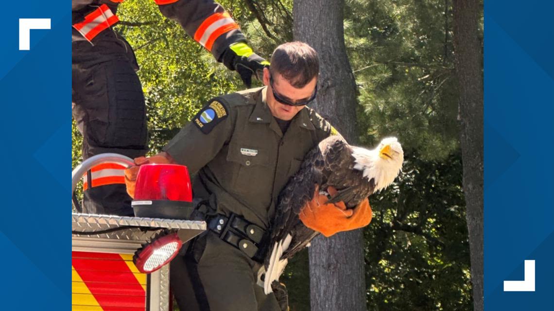
[(135, 252), (133, 262), (142, 273), (152, 273), (172, 261), (183, 242), (177, 232), (164, 231)]

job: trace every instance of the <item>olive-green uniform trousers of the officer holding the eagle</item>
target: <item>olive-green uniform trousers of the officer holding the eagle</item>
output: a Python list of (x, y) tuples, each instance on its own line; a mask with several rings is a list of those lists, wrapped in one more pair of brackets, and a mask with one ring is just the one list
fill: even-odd
[[(187, 311), (281, 311), (274, 293), (257, 284), (261, 265), (206, 232), (186, 255), (171, 262), (171, 289), (179, 309)], [(286, 296), (285, 296), (286, 299)], [(284, 304), (286, 308), (286, 303)], [(286, 309), (284, 309), (286, 310)]]

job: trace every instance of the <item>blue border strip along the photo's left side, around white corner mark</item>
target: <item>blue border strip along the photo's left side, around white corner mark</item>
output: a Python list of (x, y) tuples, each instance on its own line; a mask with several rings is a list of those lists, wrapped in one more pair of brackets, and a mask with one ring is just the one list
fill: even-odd
[[(3, 1), (2, 310), (69, 309), (71, 15), (69, 1)], [(19, 50), (19, 18), (50, 18)]]

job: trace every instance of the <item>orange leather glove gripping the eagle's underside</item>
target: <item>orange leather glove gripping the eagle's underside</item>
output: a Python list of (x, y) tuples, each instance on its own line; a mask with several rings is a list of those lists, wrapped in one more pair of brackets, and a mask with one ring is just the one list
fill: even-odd
[[(331, 196), (337, 193), (337, 190), (332, 187), (327, 191)], [(352, 210), (346, 209), (343, 202), (327, 203), (327, 201), (327, 196), (320, 195), (319, 187), (316, 186), (314, 199), (302, 208), (299, 215), (306, 227), (330, 237), (337, 232), (354, 230), (370, 224), (372, 211), (367, 198)]]

